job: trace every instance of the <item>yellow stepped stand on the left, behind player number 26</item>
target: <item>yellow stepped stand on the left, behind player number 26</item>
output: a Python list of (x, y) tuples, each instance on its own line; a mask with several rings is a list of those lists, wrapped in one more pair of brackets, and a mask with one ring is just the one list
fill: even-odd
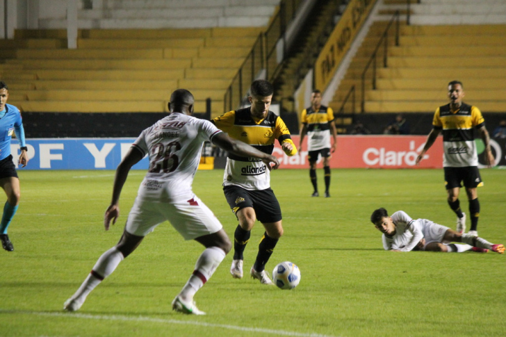
[(217, 115), (278, 2), (103, 1), (102, 8), (79, 10), (77, 49), (67, 49), (65, 19), (55, 13), (39, 20), (44, 29), (0, 40), (9, 103), (39, 113), (155, 113), (166, 111), (168, 92), (182, 87), (195, 94), (196, 111), (210, 98)]

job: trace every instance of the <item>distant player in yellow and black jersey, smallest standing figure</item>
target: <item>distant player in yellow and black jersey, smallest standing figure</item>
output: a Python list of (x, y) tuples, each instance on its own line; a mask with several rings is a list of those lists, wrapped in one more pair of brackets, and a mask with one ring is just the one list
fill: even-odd
[[(316, 179), (316, 161), (318, 156), (323, 157), (323, 170), (325, 172), (325, 197), (330, 197), (330, 154), (336, 151), (337, 135), (332, 108), (321, 105), (322, 93), (314, 90), (311, 94), (311, 106), (302, 110), (300, 120), (299, 153), (302, 154), (302, 144), (307, 135), (307, 151), (309, 160), (309, 177), (313, 183), (311, 197), (319, 197), (318, 181)], [(332, 133), (332, 149), (330, 147), (330, 134)]]

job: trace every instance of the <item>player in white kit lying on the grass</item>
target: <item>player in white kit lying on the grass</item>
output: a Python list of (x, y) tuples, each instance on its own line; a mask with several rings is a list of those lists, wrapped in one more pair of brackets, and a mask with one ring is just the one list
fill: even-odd
[[(425, 250), (430, 252), (474, 252), (489, 250), (503, 254), (504, 245), (494, 245), (484, 238), (472, 236), (436, 224), (427, 219), (413, 220), (404, 211), (397, 211), (389, 217), (385, 208), (378, 208), (370, 215), (370, 221), (383, 233), (383, 247), (393, 252)], [(465, 243), (455, 245), (452, 243)]]

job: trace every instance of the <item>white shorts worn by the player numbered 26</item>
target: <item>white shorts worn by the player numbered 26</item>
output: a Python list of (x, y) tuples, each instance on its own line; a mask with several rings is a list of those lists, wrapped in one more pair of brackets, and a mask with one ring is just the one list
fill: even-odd
[(216, 233), (222, 224), (196, 195), (177, 202), (154, 202), (136, 198), (125, 229), (136, 236), (147, 236), (158, 224), (168, 220), (185, 240)]

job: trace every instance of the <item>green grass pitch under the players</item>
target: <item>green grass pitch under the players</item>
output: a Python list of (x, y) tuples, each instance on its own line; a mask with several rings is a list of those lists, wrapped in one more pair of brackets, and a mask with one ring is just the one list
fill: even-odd
[[(267, 270), (292, 261), (294, 290), (249, 277), (263, 228), (245, 252), (245, 277), (229, 274), (232, 254), (195, 300), (206, 316), (170, 303), (202, 247), (161, 224), (88, 296), (80, 311), (63, 302), (97, 258), (119, 240), (144, 172), (132, 171), (122, 215), (108, 232), (103, 214), (112, 171), (20, 171), (22, 202), (10, 225), (15, 246), (0, 252), (0, 336), (504, 336), (506, 256), (385, 252), (370, 213), (385, 207), (453, 228), (443, 170), (333, 170), (329, 199), (311, 198), (309, 170), (272, 172), (284, 237)], [(481, 170), (480, 236), (506, 243), (506, 172)], [(323, 192), (323, 170), (318, 170)], [(221, 188), (222, 171), (199, 171), (195, 193), (233, 240), (237, 222)], [(464, 211), (468, 203), (460, 197)], [(469, 224), (468, 224), (469, 226)]]

